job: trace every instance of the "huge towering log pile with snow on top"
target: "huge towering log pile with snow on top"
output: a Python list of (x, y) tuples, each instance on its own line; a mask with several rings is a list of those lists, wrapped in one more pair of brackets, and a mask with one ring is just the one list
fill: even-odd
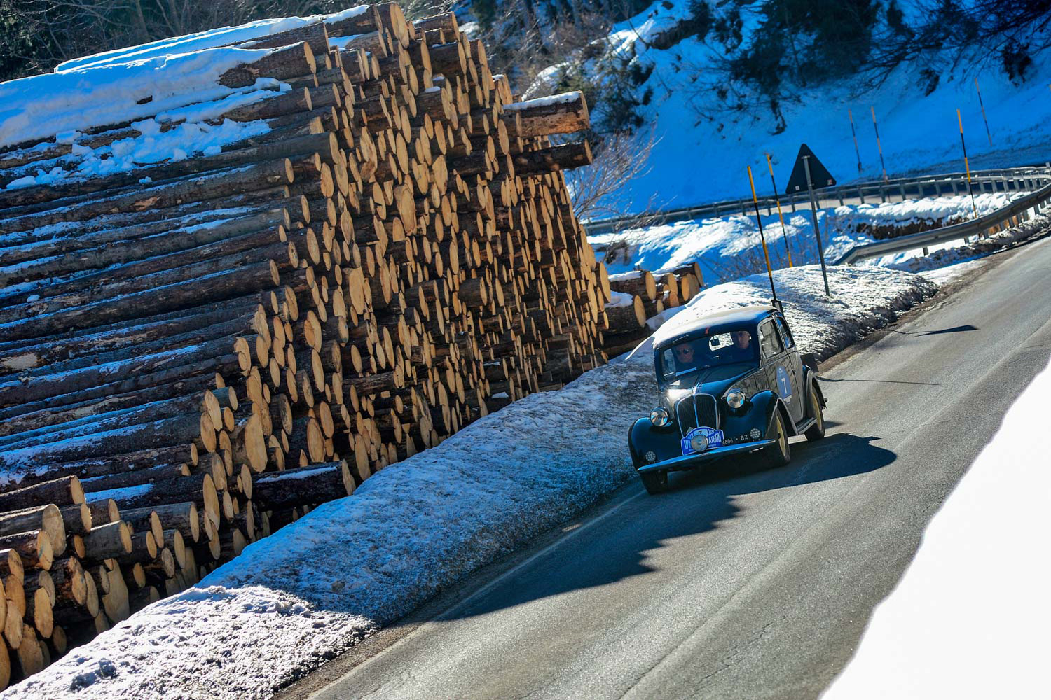
[[(0, 687), (605, 361), (561, 170), (452, 14), (267, 20), (0, 84)], [(12, 663), (12, 661), (15, 661)]]

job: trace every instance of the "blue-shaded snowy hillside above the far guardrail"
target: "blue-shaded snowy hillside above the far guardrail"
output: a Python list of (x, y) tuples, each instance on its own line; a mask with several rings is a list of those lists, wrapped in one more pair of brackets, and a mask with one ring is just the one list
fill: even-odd
[[(972, 168), (1051, 158), (1045, 126), (1051, 115), (1051, 94), (1037, 78), (1047, 73), (1051, 59), (1046, 51), (1036, 50), (1039, 37), (1029, 36), (1029, 48), (1019, 48), (1028, 50), (1026, 59), (1032, 61), (1024, 65), (1021, 76), (1005, 58), (1013, 56), (1006, 40), (1008, 45), (996, 51), (975, 47), (960, 52), (946, 47), (908, 57), (888, 70), (882, 83), (869, 88), (872, 57), (879, 52), (879, 47), (870, 47), (867, 62), (849, 77), (836, 77), (830, 70), (821, 75), (815, 67), (810, 70), (817, 78), (807, 81), (805, 66), (800, 73), (805, 84), (790, 75), (777, 76), (777, 97), (771, 98), (761, 84), (731, 80), (727, 75), (727, 58), (733, 54), (729, 46), (736, 39), (721, 38), (714, 29), (691, 34), (699, 31), (697, 12), (701, 4), (684, 0), (653, 3), (614, 24), (590, 48), (550, 66), (527, 92), (535, 97), (583, 83), (588, 93), (588, 85), (604, 85), (590, 93), (598, 102), (594, 112), (599, 130), (603, 125), (609, 130), (622, 124), (626, 110), (638, 118), (635, 132), (639, 140), (647, 141), (652, 132), (654, 145), (644, 172), (610, 199), (617, 210), (631, 213), (747, 196), (745, 166), (749, 165), (758, 176), (760, 193), (767, 193), (771, 189), (767, 152), (783, 189), (801, 143), (809, 145), (841, 183), (879, 178), (882, 170), (870, 109), (879, 120), (884, 163), (891, 177), (963, 171), (957, 108)], [(739, 9), (741, 23), (736, 29), (741, 39), (737, 43), (744, 46), (768, 30), (763, 12), (771, 4), (757, 1), (708, 6), (716, 15), (727, 6)], [(878, 5), (880, 12), (888, 6), (885, 2), (861, 4)], [(913, 0), (897, 4), (905, 21), (920, 22), (919, 16), (929, 3)], [(797, 33), (796, 39), (802, 44), (821, 40), (805, 31)], [(735, 56), (739, 58), (742, 50), (737, 49)], [(585, 58), (592, 55), (595, 58)], [(751, 57), (756, 61), (761, 58)], [(613, 64), (617, 64), (616, 70), (610, 67)], [(772, 59), (755, 68), (763, 79), (779, 70), (788, 71), (788, 67)], [(975, 81), (982, 90), (989, 134)], [(861, 170), (848, 110), (857, 129)]]

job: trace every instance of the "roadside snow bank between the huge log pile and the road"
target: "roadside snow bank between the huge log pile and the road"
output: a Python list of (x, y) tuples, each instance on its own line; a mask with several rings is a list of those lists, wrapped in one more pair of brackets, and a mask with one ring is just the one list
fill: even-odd
[[(934, 289), (890, 270), (829, 274), (832, 299), (821, 295), (820, 271), (777, 273), (799, 344), (825, 355)], [(707, 289), (681, 316), (762, 302), (764, 284)], [(634, 479), (624, 439), (653, 407), (652, 362), (636, 353), (475, 422), (0, 697), (271, 696)]]

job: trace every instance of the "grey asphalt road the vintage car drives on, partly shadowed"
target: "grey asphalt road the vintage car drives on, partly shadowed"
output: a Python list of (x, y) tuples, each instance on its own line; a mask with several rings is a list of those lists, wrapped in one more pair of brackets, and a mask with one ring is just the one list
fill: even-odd
[(822, 368), (787, 467), (632, 483), (283, 697), (817, 697), (1047, 364), (1049, 280), (1051, 239), (993, 256)]

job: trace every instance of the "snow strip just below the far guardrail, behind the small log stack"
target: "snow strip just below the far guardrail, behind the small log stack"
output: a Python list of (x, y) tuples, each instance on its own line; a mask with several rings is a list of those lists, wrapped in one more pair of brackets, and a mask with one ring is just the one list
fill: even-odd
[[(986, 193), (975, 195), (978, 214), (1007, 205), (1013, 196), (1024, 193)], [(969, 218), (970, 197), (966, 195), (908, 199), (819, 209), (825, 260), (834, 260), (854, 246), (874, 242), (870, 232), (901, 229), (933, 229)], [(777, 211), (762, 215), (763, 233), (774, 267), (787, 267), (786, 246), (795, 264), (818, 261), (813, 236), (813, 220), (809, 209), (784, 212), (784, 230)], [(644, 270), (664, 270), (698, 262), (707, 284), (737, 279), (765, 270), (759, 228), (754, 214), (734, 214), (719, 218), (677, 221), (644, 229), (589, 236), (596, 252), (612, 251), (605, 264), (614, 279), (636, 266)], [(787, 242), (786, 242), (787, 241)], [(910, 253), (887, 256), (886, 262), (901, 262)]]

